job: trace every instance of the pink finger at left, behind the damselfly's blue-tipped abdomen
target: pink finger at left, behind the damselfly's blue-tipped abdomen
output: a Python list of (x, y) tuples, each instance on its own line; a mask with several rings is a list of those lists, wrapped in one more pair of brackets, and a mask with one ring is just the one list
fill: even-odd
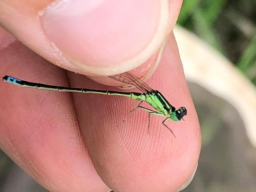
[[(19, 42), (0, 52), (0, 66), (2, 76), (69, 85), (65, 70)], [(0, 84), (0, 147), (14, 162), (49, 191), (108, 191), (84, 145), (70, 93)]]

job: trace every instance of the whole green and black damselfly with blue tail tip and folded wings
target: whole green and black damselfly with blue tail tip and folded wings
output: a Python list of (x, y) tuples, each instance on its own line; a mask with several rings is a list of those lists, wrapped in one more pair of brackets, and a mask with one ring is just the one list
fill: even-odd
[[(165, 124), (165, 122), (172, 121), (180, 121), (183, 120), (183, 116), (187, 115), (187, 109), (185, 107), (180, 107), (177, 110), (173, 107), (164, 96), (157, 90), (152, 89), (146, 83), (144, 83), (139, 77), (133, 75), (130, 72), (121, 73), (114, 76), (109, 76), (112, 79), (120, 81), (122, 83), (130, 84), (135, 86), (137, 89), (141, 91), (139, 92), (117, 92), (117, 91), (105, 91), (105, 90), (92, 90), (86, 88), (70, 88), (70, 87), (62, 87), (55, 85), (47, 85), (41, 83), (32, 83), (28, 81), (23, 81), (21, 79), (17, 79), (12, 76), (4, 76), (3, 81), (6, 81), (11, 84), (19, 85), (22, 87), (30, 87), (41, 90), (49, 90), (49, 91), (59, 91), (59, 92), (79, 92), (79, 93), (94, 93), (94, 94), (103, 94), (103, 95), (116, 95), (129, 97), (134, 100), (140, 101), (139, 105), (130, 111), (129, 117), (137, 108), (148, 111), (148, 128), (150, 124), (150, 115), (157, 115), (165, 117), (162, 124), (168, 128), (171, 132), (172, 130)], [(143, 101), (146, 101), (150, 104), (155, 110), (148, 109), (140, 106)], [(174, 133), (172, 132), (174, 135)], [(175, 135), (174, 135), (175, 137)]]

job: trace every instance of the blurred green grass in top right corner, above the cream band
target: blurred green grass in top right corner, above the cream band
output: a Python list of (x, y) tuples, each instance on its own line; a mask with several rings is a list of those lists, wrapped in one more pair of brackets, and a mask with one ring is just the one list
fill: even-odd
[(178, 24), (226, 56), (256, 85), (256, 1), (184, 0)]

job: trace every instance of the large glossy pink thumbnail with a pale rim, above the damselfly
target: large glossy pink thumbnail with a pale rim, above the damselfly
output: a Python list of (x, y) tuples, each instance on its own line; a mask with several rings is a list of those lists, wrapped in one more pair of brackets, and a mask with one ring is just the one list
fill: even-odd
[(40, 13), (40, 22), (49, 40), (72, 64), (85, 70), (124, 65), (127, 71), (145, 62), (162, 44), (167, 3), (57, 0)]

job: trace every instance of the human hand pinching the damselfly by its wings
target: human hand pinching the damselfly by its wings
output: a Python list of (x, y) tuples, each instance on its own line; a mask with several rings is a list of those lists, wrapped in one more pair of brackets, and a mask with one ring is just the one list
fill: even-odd
[[(111, 29), (106, 30), (106, 23), (113, 19), (107, 14), (98, 20), (90, 20), (93, 15), (86, 16), (85, 23), (92, 22), (89, 27), (89, 24), (81, 24), (81, 18), (64, 20), (62, 26), (57, 26), (58, 22), (54, 21), (49, 28), (47, 25), (41, 26), (45, 20), (47, 24), (53, 20), (51, 14), (45, 16), (45, 20), (37, 19), (38, 11), (49, 2), (0, 0), (1, 26), (52, 63), (85, 75), (113, 75), (113, 71), (121, 73), (133, 69), (141, 64), (139, 61), (145, 60), (155, 51), (146, 63), (136, 69), (141, 75), (153, 71), (157, 65), (155, 58), (161, 53), (159, 47), (164, 41), (164, 36), (173, 28), (181, 6), (181, 1), (169, 1), (169, 19), (165, 19), (168, 26), (162, 32), (164, 36), (159, 37), (162, 42), (156, 42), (156, 50), (152, 48), (151, 51), (142, 53), (141, 50), (147, 47), (155, 35), (156, 30), (153, 29), (158, 27), (159, 20), (152, 20), (153, 24), (148, 24), (148, 16), (143, 18), (142, 15), (145, 16), (148, 12), (149, 16), (155, 18), (160, 14), (156, 4), (167, 1), (152, 0), (154, 9), (150, 9), (151, 2), (148, 1), (134, 1), (132, 7), (127, 5), (130, 1), (122, 1), (127, 3), (125, 7), (122, 3), (118, 5), (116, 1), (109, 1), (110, 5), (112, 2), (113, 10), (108, 7), (109, 4), (100, 6), (100, 12), (114, 12), (115, 18), (123, 19), (122, 16), (125, 18), (127, 15), (133, 17), (127, 19), (127, 25), (115, 22), (113, 26), (118, 32), (115, 35), (111, 34)], [(147, 4), (148, 8), (145, 8), (144, 12), (136, 12), (136, 9), (141, 10), (141, 5), (144, 4)], [(76, 5), (72, 5), (73, 10), (76, 10), (73, 6)], [(125, 10), (122, 10), (124, 8)], [(128, 11), (128, 8), (131, 10)], [(124, 11), (127, 11), (127, 15)], [(70, 14), (69, 16), (74, 17)], [(138, 25), (137, 22), (132, 22), (134, 18), (141, 18), (139, 24), (144, 25), (141, 28), (134, 27), (135, 24)], [(80, 24), (73, 23), (76, 21), (80, 21)], [(100, 28), (93, 28), (94, 24)], [(119, 28), (116, 27), (118, 24)], [(56, 30), (52, 32), (53, 36), (50, 35), (50, 29)], [(137, 30), (124, 34), (124, 31), (133, 29)], [(102, 36), (99, 41), (88, 43), (92, 35), (100, 32), (105, 34), (98, 34), (99, 37)], [(1, 31), (2, 36), (4, 33)], [(63, 34), (72, 36), (73, 39), (64, 38)], [(142, 34), (144, 39), (140, 41)], [(66, 72), (48, 63), (12, 37), (3, 39), (6, 41), (1, 41), (2, 75), (46, 84), (111, 89), (85, 76)], [(60, 54), (51, 42), (56, 44), (63, 54)], [(9, 46), (6, 46), (8, 44)], [(123, 49), (120, 49), (120, 45)], [(76, 50), (78, 52), (74, 52)], [(137, 58), (138, 62), (123, 62), (132, 60), (131, 58)], [(101, 77), (96, 77), (95, 80), (104, 84), (115, 83), (112, 80), (106, 82), (105, 79), (104, 82)], [(129, 110), (136, 106), (135, 101), (127, 98), (72, 95), (1, 83), (0, 147), (23, 170), (50, 191), (105, 192), (108, 187), (116, 192), (175, 191), (196, 169), (201, 137), (196, 111), (172, 33), (167, 39), (162, 60), (147, 84), (161, 91), (175, 107), (185, 106), (191, 114), (186, 116), (184, 122), (168, 122), (177, 138), (163, 127), (161, 117), (152, 117), (148, 133), (148, 114), (145, 111), (136, 111), (126, 122), (116, 127)]]

